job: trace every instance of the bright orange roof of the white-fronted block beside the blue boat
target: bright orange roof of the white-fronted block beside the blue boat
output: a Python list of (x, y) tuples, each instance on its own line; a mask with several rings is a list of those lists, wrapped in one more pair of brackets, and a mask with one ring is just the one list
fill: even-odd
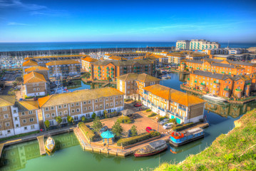
[(172, 100), (176, 103), (185, 106), (197, 105), (200, 103), (205, 103), (205, 100), (198, 98), (194, 95), (188, 95), (188, 93), (183, 93), (179, 90), (174, 90), (159, 84), (155, 84), (153, 86), (148, 86), (143, 88), (144, 90), (157, 95), (160, 98), (164, 98), (166, 100)]

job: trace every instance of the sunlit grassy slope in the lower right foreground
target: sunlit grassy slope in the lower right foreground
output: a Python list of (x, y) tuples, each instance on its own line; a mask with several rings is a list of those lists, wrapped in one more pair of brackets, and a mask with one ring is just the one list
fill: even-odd
[(235, 128), (220, 135), (198, 155), (179, 164), (163, 163), (159, 170), (256, 170), (256, 110), (235, 121)]

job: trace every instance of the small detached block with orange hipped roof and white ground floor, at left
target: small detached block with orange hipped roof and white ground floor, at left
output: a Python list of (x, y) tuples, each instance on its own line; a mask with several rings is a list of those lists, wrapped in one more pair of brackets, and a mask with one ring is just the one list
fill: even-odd
[(25, 86), (25, 95), (36, 97), (47, 94), (47, 81), (41, 73), (32, 71), (23, 77)]

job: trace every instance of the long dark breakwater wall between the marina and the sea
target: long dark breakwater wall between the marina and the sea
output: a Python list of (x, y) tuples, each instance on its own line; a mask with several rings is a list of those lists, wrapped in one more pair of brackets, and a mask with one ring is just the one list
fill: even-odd
[(92, 52), (132, 52), (132, 51), (173, 51), (171, 47), (146, 47), (146, 48), (80, 48), (80, 49), (61, 49), (61, 50), (40, 50), (40, 51), (0, 51), (0, 56), (42, 56), (42, 55), (65, 55)]

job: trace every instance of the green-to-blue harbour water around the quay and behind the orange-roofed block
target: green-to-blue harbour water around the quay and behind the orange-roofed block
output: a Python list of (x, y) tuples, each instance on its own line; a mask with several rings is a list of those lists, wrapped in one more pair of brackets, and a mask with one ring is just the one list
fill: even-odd
[[(178, 84), (183, 79), (173, 75), (170, 81), (163, 81), (164, 85), (172, 87), (173, 84), (178, 89)], [(144, 170), (158, 167), (161, 162), (180, 162), (185, 160), (190, 154), (197, 154), (205, 147), (208, 147), (217, 136), (228, 133), (234, 128), (234, 121), (239, 119), (248, 110), (256, 108), (256, 103), (245, 105), (216, 105), (208, 103), (208, 110), (205, 110), (210, 127), (205, 129), (205, 138), (191, 142), (182, 147), (168, 147), (168, 150), (151, 157), (135, 158), (113, 157), (110, 155), (100, 155), (86, 152), (76, 140), (73, 133), (53, 136), (56, 140), (57, 150), (53, 155), (40, 156), (39, 143), (37, 140), (24, 142), (18, 145), (4, 147), (0, 160), (0, 170)], [(172, 151), (172, 152), (171, 152)], [(173, 153), (175, 152), (175, 153)]]

